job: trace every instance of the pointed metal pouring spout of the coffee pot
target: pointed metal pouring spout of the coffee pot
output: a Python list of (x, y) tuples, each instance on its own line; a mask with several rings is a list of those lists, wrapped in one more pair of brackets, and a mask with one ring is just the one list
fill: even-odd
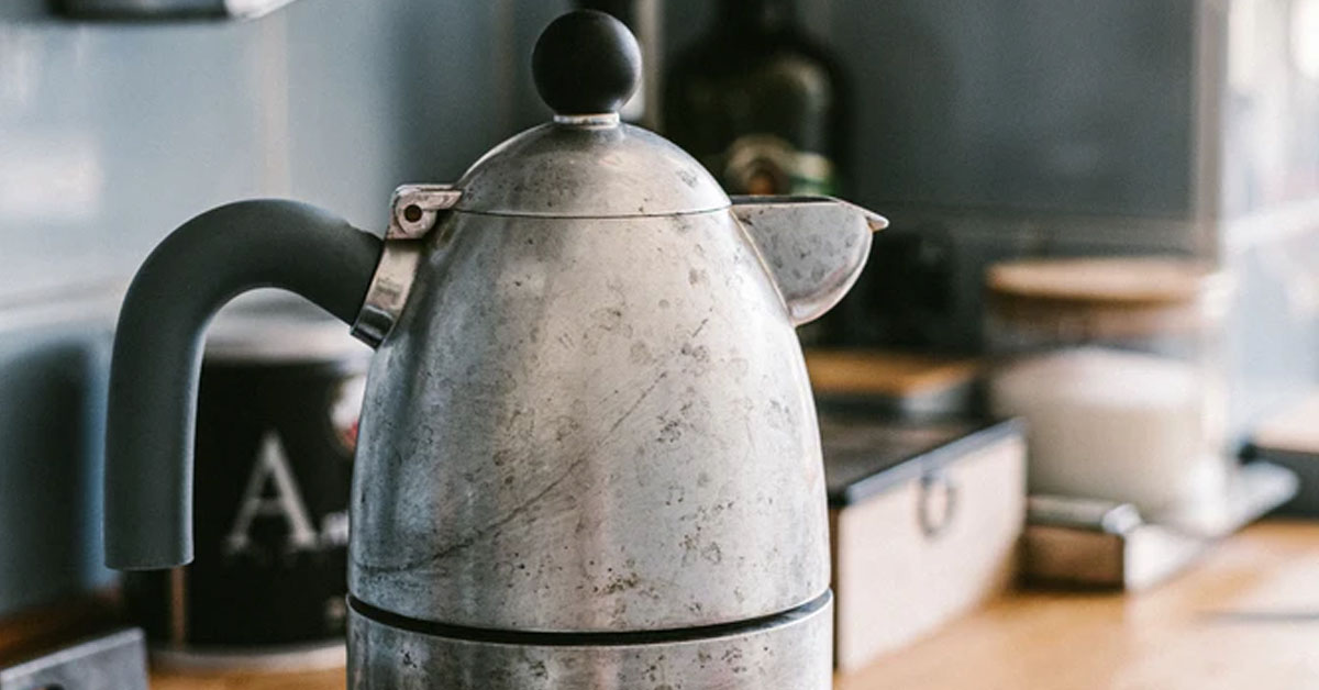
[(884, 216), (832, 197), (735, 197), (732, 214), (774, 277), (794, 326), (824, 315), (865, 267)]

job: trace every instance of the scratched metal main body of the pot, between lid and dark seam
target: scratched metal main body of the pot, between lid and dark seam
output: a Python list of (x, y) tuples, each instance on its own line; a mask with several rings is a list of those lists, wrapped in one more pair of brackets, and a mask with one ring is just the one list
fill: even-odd
[(350, 587), (521, 631), (708, 625), (828, 586), (819, 431), (728, 211), (452, 214), (369, 376)]

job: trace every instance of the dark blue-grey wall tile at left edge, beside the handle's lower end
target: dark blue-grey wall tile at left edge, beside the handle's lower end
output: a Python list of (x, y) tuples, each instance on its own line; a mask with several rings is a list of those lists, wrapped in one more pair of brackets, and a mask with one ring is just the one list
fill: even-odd
[(103, 583), (100, 435), (109, 329), (0, 336), (0, 613)]

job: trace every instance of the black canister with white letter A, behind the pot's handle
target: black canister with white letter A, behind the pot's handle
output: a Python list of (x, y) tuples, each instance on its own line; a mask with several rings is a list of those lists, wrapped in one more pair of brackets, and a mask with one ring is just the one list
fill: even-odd
[(342, 323), (288, 299), (245, 301), (216, 318), (198, 396), (195, 559), (125, 580), (158, 661), (342, 662), (369, 355)]

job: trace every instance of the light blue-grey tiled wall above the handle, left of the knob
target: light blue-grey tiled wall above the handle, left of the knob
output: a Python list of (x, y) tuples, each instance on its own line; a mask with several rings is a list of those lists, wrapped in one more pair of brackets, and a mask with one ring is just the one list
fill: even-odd
[[(0, 24), (0, 299), (121, 280), (199, 210), (291, 195), (363, 227), (520, 121), (551, 3), (303, 0), (252, 22)], [(525, 42), (522, 44), (526, 45)]]

